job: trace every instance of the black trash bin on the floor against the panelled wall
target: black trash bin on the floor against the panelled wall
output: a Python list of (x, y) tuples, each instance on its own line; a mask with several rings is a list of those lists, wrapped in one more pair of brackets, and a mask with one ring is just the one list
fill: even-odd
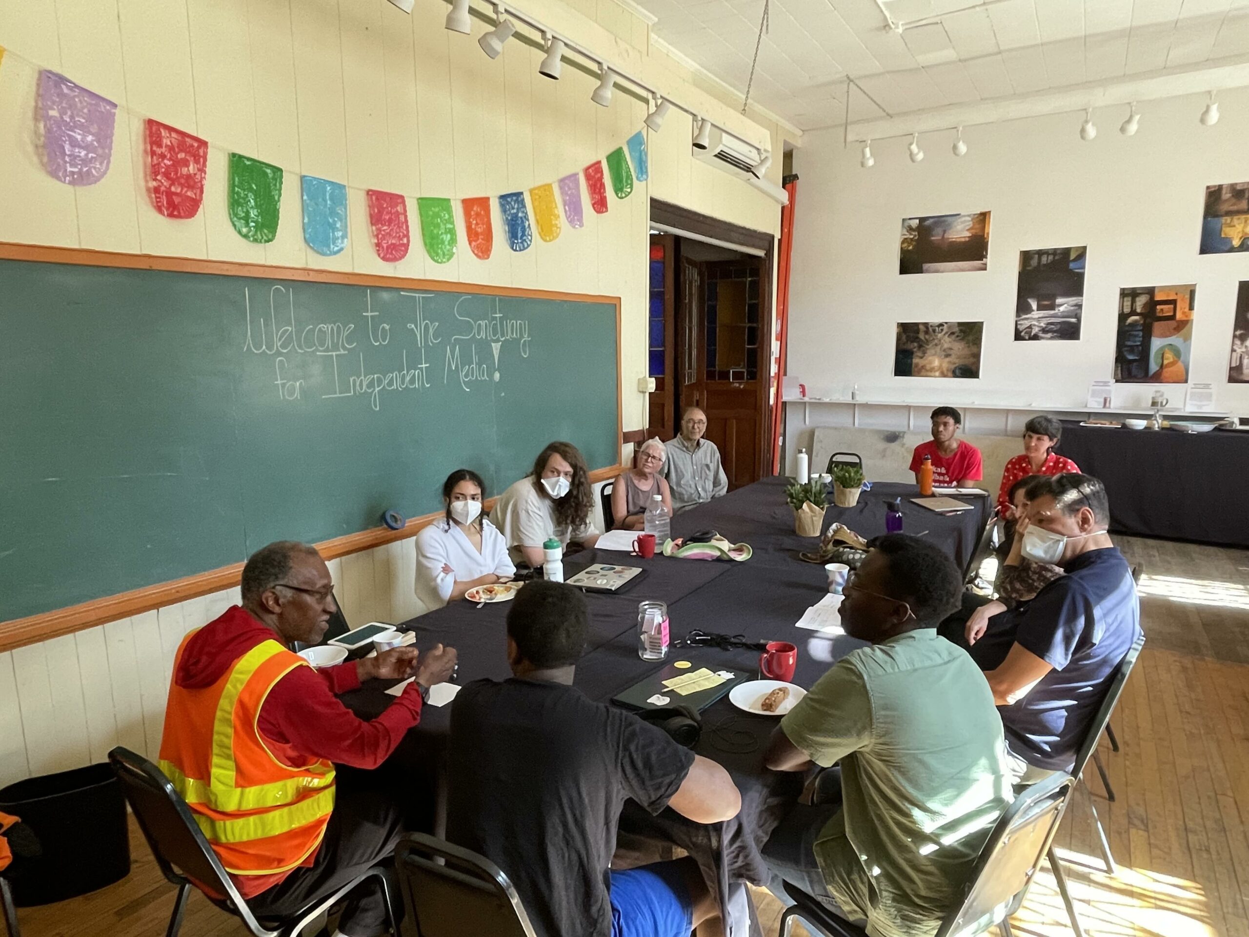
[(0, 812), (21, 817), (42, 847), (5, 871), (17, 907), (75, 898), (130, 875), (126, 798), (107, 763), (9, 785)]

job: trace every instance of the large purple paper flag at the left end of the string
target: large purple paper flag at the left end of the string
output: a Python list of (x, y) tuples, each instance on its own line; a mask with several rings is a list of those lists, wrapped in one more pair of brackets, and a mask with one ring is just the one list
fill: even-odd
[(117, 105), (55, 71), (39, 72), (44, 167), (66, 185), (95, 185), (109, 172)]

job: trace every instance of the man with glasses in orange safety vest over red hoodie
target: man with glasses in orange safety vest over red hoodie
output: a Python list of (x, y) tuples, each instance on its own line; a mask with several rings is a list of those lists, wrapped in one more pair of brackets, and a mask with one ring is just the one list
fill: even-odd
[[(177, 650), (160, 768), (259, 917), (294, 913), (386, 858), (398, 806), (376, 791), (338, 790), (335, 765), (376, 768), (421, 718), (428, 690), (456, 652), (400, 647), (312, 670), (295, 642), (315, 645), (337, 611), (315, 547), (270, 543), (247, 560), (242, 605), (189, 633)], [(415, 677), (372, 721), (337, 698), (371, 677)], [(386, 928), (376, 886), (353, 895), (342, 937)]]

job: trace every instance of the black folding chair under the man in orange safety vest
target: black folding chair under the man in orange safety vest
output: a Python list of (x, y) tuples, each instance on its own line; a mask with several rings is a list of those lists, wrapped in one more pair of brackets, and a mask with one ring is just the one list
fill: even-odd
[(209, 841), (204, 838), (200, 827), (195, 825), (191, 810), (160, 768), (141, 755), (135, 755), (121, 747), (109, 752), (109, 762), (112, 765), (117, 780), (121, 781), (126, 800), (135, 812), (135, 820), (139, 821), (144, 838), (151, 847), (156, 865), (165, 878), (177, 886), (177, 898), (174, 901), (174, 913), (170, 915), (165, 937), (175, 937), (182, 926), (186, 900), (190, 897), (192, 887), (200, 888), (201, 892), (210, 888), (217, 895), (224, 895), (225, 898), (214, 898), (204, 892), (205, 897), (219, 908), (241, 918), (254, 937), (296, 937), (305, 927), (325, 913), (331, 905), (341, 901), (347, 892), (367, 878), (377, 878), (381, 885), (391, 930), (396, 935), (398, 933), (390, 886), (380, 867), (368, 870), (296, 915), (276, 920), (266, 917), (265, 923), (261, 923), (247, 907), (247, 902), (244, 901), (235, 883), (230, 880), (230, 875), (212, 851)]

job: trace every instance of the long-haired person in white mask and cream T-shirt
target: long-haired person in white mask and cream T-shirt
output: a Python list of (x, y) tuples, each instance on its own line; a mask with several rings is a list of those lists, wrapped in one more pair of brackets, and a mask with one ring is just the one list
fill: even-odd
[(542, 565), (542, 545), (558, 540), (592, 547), (595, 492), (586, 460), (571, 442), (551, 442), (533, 460), (533, 471), (498, 496), (491, 517), (503, 532), (513, 562)]

